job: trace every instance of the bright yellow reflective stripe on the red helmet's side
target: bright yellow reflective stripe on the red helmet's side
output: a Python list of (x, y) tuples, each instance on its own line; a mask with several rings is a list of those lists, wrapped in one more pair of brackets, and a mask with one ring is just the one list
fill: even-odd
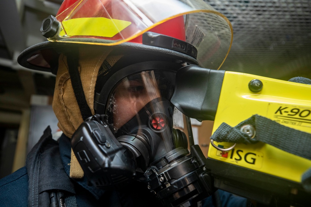
[(59, 35), (68, 36), (99, 36), (113, 37), (132, 23), (124, 20), (108, 19), (104, 17), (77, 18), (64, 20), (63, 30)]

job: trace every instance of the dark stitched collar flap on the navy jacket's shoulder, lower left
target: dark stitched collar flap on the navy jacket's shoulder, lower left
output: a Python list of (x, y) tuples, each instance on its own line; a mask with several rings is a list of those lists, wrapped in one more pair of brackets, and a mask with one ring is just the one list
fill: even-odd
[(58, 142), (52, 139), (51, 128), (48, 127), (27, 155), (28, 206), (50, 206), (49, 192), (55, 189), (75, 194), (74, 184), (63, 166)]

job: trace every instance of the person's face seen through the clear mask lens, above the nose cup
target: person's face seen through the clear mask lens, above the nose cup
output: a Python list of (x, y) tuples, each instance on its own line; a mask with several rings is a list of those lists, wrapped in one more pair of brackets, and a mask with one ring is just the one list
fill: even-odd
[[(151, 100), (169, 100), (174, 91), (173, 72), (144, 71), (122, 79), (107, 104), (108, 123), (116, 132)], [(164, 111), (164, 109), (162, 110)]]

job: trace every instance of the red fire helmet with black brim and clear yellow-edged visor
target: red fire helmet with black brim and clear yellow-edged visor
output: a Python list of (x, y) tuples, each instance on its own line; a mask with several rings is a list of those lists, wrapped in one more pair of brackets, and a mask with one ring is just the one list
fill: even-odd
[(54, 74), (59, 53), (86, 44), (218, 69), (233, 37), (229, 20), (202, 0), (64, 0), (40, 31), (49, 41), (27, 48), (18, 62)]

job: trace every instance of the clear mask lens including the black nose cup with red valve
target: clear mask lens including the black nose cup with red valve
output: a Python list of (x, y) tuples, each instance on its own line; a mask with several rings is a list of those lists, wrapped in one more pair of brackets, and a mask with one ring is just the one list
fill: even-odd
[(151, 147), (151, 161), (176, 147), (169, 102), (174, 77), (173, 72), (154, 70), (133, 74), (122, 79), (109, 97), (107, 122), (115, 136), (144, 134)]

